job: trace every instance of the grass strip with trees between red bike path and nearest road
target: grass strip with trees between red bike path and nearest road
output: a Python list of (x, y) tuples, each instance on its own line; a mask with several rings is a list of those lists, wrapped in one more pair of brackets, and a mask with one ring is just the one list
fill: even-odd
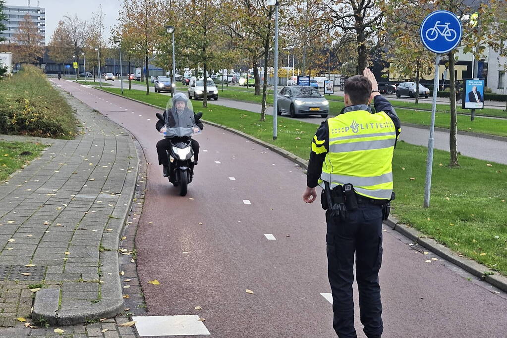
[[(117, 89), (105, 89), (119, 94)], [(126, 97), (165, 107), (167, 96), (126, 91)], [(199, 109), (201, 110), (201, 109)], [(308, 158), (317, 129), (312, 123), (279, 117), (278, 138), (272, 139), (272, 119), (259, 114), (209, 104), (203, 118), (227, 125)], [(507, 165), (460, 156), (450, 168), (449, 152), (435, 150), (431, 207), (423, 208), (426, 147), (399, 142), (393, 159), (396, 200), (393, 214), (428, 237), (507, 275)], [(303, 189), (304, 187), (302, 187)]]

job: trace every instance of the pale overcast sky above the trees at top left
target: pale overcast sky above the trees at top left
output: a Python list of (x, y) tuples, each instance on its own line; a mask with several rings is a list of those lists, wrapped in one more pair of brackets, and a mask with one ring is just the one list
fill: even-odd
[[(30, 0), (30, 6), (37, 6), (37, 2), (37, 0)], [(102, 5), (102, 11), (105, 14), (104, 23), (106, 38), (108, 38), (110, 28), (117, 22), (121, 3), (121, 0), (39, 0), (39, 7), (46, 9), (46, 45), (58, 25), (58, 21), (63, 19), (64, 15), (78, 14), (81, 19), (89, 21), (99, 5)], [(6, 5), (28, 6), (28, 0), (7, 0)]]

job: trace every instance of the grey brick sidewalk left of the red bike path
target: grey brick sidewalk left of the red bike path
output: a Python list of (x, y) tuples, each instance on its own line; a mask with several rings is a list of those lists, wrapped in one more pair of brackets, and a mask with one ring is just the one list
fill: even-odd
[[(0, 328), (2, 337), (55, 334), (25, 328), (18, 317), (64, 325), (125, 309), (118, 250), (136, 186), (135, 144), (120, 126), (74, 98), (68, 101), (82, 124), (75, 140), (3, 137), (51, 146), (0, 185), (0, 326), (8, 327)], [(63, 336), (94, 336), (91, 329), (100, 328), (98, 336), (133, 337), (131, 327), (114, 322), (62, 327)]]

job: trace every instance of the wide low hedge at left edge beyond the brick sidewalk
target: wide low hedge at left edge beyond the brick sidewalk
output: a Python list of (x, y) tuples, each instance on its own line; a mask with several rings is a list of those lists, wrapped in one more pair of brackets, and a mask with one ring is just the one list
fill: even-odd
[(70, 139), (74, 111), (39, 68), (23, 66), (0, 81), (0, 133)]

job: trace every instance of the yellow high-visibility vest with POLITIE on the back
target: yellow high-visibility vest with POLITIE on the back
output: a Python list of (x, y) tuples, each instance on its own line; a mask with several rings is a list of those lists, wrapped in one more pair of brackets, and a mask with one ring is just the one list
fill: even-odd
[(319, 185), (352, 183), (356, 193), (390, 199), (392, 155), (396, 129), (384, 112), (350, 111), (328, 119), (329, 151), (322, 163)]

